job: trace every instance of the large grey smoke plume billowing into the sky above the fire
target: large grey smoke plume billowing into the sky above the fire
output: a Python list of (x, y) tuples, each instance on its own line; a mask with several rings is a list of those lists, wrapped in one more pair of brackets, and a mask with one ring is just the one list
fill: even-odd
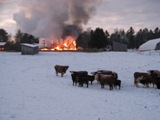
[(101, 0), (22, 0), (21, 10), (13, 18), (23, 32), (59, 39), (67, 25), (81, 29), (87, 24), (100, 2)]

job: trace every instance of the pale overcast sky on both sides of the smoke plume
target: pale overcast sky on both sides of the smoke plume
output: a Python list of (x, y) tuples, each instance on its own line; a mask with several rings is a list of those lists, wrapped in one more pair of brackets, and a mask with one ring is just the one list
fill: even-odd
[[(0, 0), (0, 28), (8, 33), (15, 34), (18, 29), (13, 15), (22, 8), (22, 1), (25, 0)], [(100, 27), (109, 32), (116, 28), (128, 30), (131, 26), (135, 30), (160, 28), (159, 8), (160, 0), (103, 0), (96, 5), (96, 14), (85, 28)]]

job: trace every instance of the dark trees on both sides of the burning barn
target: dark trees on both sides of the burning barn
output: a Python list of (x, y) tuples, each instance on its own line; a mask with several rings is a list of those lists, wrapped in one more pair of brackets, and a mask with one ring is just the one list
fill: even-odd
[[(0, 42), (7, 42), (7, 50), (20, 51), (21, 43), (38, 43), (39, 39), (28, 33), (23, 33), (18, 30), (14, 36), (14, 40), (11, 39), (6, 30), (0, 29)], [(160, 38), (160, 29), (156, 27), (154, 30), (144, 28), (139, 29), (137, 32), (130, 27), (127, 31), (124, 29), (115, 29), (113, 33), (109, 34), (107, 30), (102, 28), (96, 28), (95, 30), (88, 30), (81, 32), (77, 39), (76, 45), (84, 49), (103, 49), (107, 45), (111, 45), (113, 42), (119, 42), (126, 44), (128, 49), (137, 49), (139, 46), (148, 40)]]

